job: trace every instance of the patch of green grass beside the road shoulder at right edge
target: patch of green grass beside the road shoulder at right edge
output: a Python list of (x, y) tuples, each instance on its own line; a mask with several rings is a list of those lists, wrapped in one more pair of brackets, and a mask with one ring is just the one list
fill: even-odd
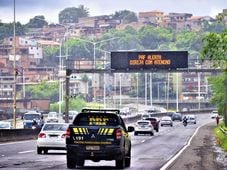
[(216, 141), (217, 141), (217, 144), (224, 151), (227, 151), (227, 135), (226, 135), (227, 133), (224, 134), (220, 128), (224, 129), (224, 131), (227, 132), (227, 127), (225, 127), (223, 123), (220, 123), (217, 127), (215, 127), (214, 133), (215, 133), (215, 136), (216, 136)]

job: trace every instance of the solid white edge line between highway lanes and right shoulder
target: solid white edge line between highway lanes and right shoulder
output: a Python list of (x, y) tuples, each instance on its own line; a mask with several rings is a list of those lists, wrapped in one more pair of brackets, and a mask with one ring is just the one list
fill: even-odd
[[(211, 123), (211, 122), (208, 122), (208, 123)], [(184, 152), (184, 150), (185, 149), (187, 149), (187, 147), (189, 147), (190, 146), (190, 144), (191, 144), (191, 141), (192, 141), (192, 139), (194, 138), (194, 136), (198, 133), (198, 131), (199, 131), (199, 129), (202, 127), (202, 126), (204, 126), (204, 125), (206, 125), (206, 124), (208, 124), (208, 123), (204, 123), (203, 125), (201, 125), (201, 126), (199, 126), (197, 129), (196, 129), (196, 131), (194, 132), (194, 134), (191, 136), (191, 138), (188, 140), (188, 143), (179, 151), (179, 152), (177, 152), (177, 154), (176, 155), (174, 155), (166, 164), (164, 164), (161, 168), (160, 168), (160, 170), (165, 170), (165, 169), (167, 169), (183, 152)]]

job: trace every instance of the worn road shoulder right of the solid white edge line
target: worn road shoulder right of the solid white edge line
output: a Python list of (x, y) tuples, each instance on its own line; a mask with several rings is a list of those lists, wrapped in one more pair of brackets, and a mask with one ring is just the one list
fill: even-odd
[(193, 137), (191, 144), (167, 168), (168, 170), (221, 170), (224, 165), (217, 161), (216, 139), (213, 133), (215, 123), (201, 127)]

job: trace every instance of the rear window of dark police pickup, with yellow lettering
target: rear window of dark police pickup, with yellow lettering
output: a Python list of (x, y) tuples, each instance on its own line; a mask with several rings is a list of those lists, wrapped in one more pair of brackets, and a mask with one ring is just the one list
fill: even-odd
[(116, 126), (119, 124), (115, 114), (108, 113), (82, 113), (74, 120), (79, 126)]

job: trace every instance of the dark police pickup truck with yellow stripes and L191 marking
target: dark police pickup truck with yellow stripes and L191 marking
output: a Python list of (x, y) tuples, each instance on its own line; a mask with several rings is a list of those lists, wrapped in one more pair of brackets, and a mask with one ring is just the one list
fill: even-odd
[(115, 160), (116, 168), (130, 167), (131, 139), (120, 110), (83, 109), (67, 129), (67, 167), (83, 167), (85, 160)]

